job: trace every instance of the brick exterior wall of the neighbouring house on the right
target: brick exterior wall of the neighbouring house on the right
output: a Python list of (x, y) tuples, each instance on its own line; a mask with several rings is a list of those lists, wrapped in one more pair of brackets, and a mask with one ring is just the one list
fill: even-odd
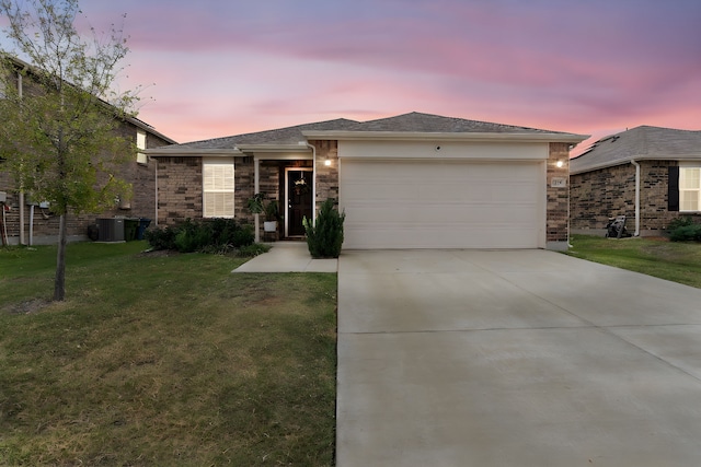
[[(640, 233), (660, 235), (669, 222), (685, 212), (669, 211), (668, 170), (677, 161), (641, 161)], [(571, 226), (576, 231), (600, 231), (609, 217), (625, 215), (629, 232), (635, 229), (635, 166), (622, 164), (570, 177)], [(691, 214), (699, 218), (699, 214)], [(701, 219), (699, 219), (701, 220)]]

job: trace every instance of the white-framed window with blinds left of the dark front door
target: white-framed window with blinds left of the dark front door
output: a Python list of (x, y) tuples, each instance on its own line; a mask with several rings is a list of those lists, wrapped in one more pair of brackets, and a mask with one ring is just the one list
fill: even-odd
[[(219, 179), (207, 180), (211, 170), (221, 171)], [(233, 157), (203, 157), (202, 160), (202, 215), (206, 219), (225, 218), (233, 219), (234, 215), (234, 166)], [(211, 185), (219, 185), (211, 187)], [(211, 200), (210, 197), (219, 196), (219, 200)], [(227, 196), (229, 195), (229, 196)], [(215, 205), (209, 202), (212, 201)], [(216, 203), (219, 202), (219, 207)]]

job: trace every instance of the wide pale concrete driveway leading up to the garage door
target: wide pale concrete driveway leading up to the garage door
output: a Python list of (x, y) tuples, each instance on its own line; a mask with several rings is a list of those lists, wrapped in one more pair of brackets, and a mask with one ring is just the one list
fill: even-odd
[(701, 290), (544, 250), (344, 252), (337, 465), (701, 465)]

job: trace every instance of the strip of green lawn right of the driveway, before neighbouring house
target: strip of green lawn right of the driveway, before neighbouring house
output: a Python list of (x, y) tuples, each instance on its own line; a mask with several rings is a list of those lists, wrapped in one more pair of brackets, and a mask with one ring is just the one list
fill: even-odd
[(574, 235), (571, 256), (701, 288), (701, 244)]

